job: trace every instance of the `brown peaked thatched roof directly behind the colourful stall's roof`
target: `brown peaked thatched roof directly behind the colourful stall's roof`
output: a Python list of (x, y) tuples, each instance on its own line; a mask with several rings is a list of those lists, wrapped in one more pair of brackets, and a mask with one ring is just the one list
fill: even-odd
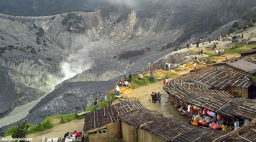
[(225, 65), (212, 65), (193, 70), (175, 78), (177, 81), (193, 82), (209, 88), (224, 90), (228, 86), (248, 88), (251, 85), (250, 74)]

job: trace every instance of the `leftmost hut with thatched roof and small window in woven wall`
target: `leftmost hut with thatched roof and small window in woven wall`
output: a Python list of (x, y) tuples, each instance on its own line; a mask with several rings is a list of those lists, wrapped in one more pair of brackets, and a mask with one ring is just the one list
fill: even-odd
[(147, 110), (141, 102), (121, 101), (118, 104), (95, 110), (85, 115), (84, 132), (88, 133), (90, 142), (108, 142), (117, 138), (120, 129), (120, 115), (127, 115), (132, 110)]

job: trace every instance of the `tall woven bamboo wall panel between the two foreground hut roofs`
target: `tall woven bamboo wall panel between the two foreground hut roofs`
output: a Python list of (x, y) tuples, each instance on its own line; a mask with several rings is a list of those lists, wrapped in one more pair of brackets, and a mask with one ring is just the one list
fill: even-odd
[(121, 122), (121, 126), (122, 137), (126, 142), (138, 142), (138, 129), (124, 122)]

